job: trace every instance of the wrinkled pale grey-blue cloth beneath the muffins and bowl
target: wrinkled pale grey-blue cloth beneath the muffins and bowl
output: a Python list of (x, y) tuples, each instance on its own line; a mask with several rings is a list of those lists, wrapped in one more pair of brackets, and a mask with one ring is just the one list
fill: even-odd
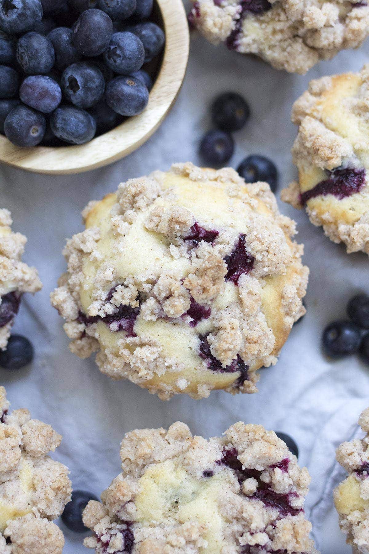
[[(65, 270), (61, 255), (65, 239), (82, 230), (80, 211), (90, 199), (115, 191), (121, 181), (165, 170), (173, 162), (198, 157), (200, 136), (210, 128), (207, 107), (217, 93), (234, 90), (245, 95), (252, 115), (235, 134), (237, 147), (230, 165), (261, 153), (280, 172), (279, 192), (295, 168), (290, 158), (295, 129), (290, 123), (292, 102), (310, 79), (357, 71), (369, 61), (369, 43), (360, 50), (341, 52), (305, 76), (272, 69), (256, 59), (194, 38), (188, 73), (174, 109), (144, 146), (131, 156), (90, 173), (66, 177), (33, 175), (0, 166), (0, 205), (11, 209), (14, 230), (28, 237), (25, 261), (36, 265), (43, 290), (25, 295), (14, 331), (32, 340), (32, 367), (18, 372), (0, 370), (13, 408), (27, 407), (32, 416), (63, 434), (55, 458), (67, 464), (75, 489), (100, 496), (119, 473), (119, 443), (128, 430), (167, 428), (180, 419), (194, 434), (211, 437), (242, 419), (282, 430), (297, 441), (300, 464), (312, 476), (307, 500), (314, 537), (323, 554), (349, 554), (337, 515), (332, 488), (342, 478), (334, 450), (357, 431), (356, 421), (369, 406), (369, 368), (356, 358), (330, 362), (320, 351), (324, 326), (345, 315), (345, 304), (357, 291), (369, 290), (365, 254), (345, 253), (309, 223), (304, 212), (280, 203), (282, 212), (298, 222), (298, 240), (305, 243), (304, 261), (311, 270), (306, 305), (308, 314), (294, 327), (276, 367), (262, 371), (259, 393), (232, 397), (213, 392), (194, 401), (176, 396), (162, 402), (128, 381), (103, 376), (93, 359), (79, 360), (68, 348), (62, 320), (50, 306), (49, 293)], [(279, 196), (279, 194), (278, 194)], [(65, 554), (87, 552), (83, 536), (65, 533)]]

